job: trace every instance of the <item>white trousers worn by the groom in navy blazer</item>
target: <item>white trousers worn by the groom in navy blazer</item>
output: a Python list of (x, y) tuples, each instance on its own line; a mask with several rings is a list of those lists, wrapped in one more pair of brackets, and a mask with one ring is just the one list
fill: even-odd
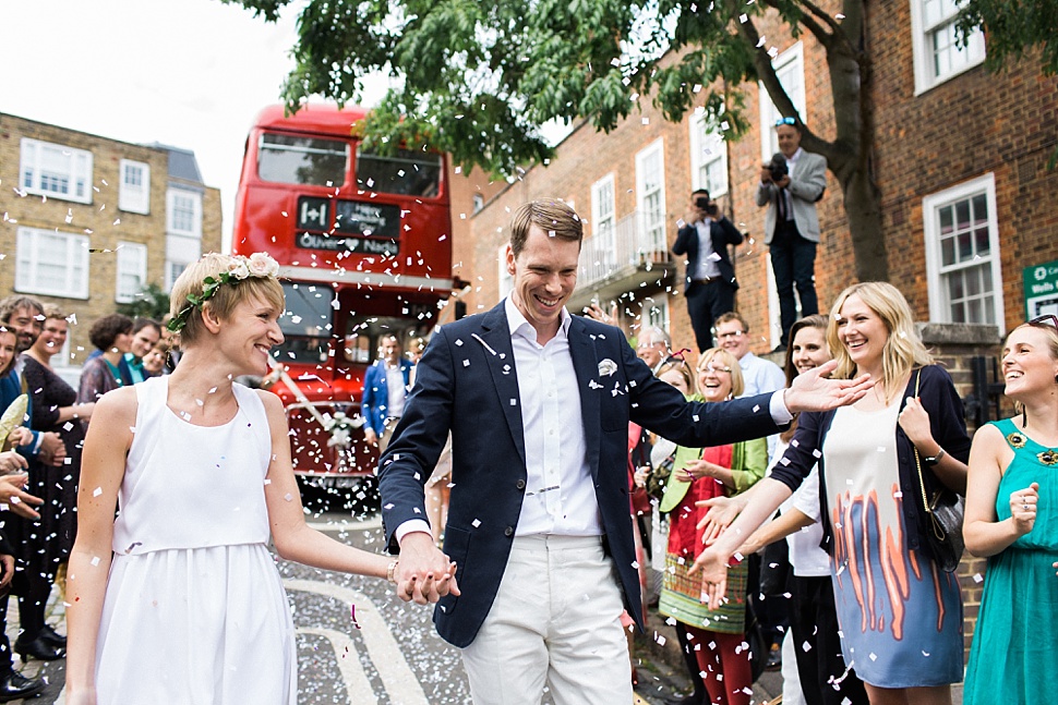
[(632, 702), (624, 606), (601, 537), (516, 537), (500, 592), (462, 649), (474, 705)]

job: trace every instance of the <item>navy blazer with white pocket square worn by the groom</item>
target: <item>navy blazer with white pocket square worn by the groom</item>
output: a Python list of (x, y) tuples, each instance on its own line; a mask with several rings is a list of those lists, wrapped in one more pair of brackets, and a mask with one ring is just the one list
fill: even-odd
[[(642, 625), (628, 498), (628, 422), (682, 446), (729, 443), (773, 434), (770, 394), (719, 404), (688, 403), (636, 357), (617, 328), (575, 316), (569, 351), (580, 386), (587, 462), (625, 606)], [(611, 374), (602, 374), (610, 365)], [(467, 646), (500, 587), (526, 493), (526, 442), (518, 370), (504, 304), (440, 328), (380, 460), (382, 520), (394, 531), (425, 519), (423, 484), (452, 431), (452, 496), (445, 552), (458, 563), (460, 597), (434, 610), (443, 639)]]

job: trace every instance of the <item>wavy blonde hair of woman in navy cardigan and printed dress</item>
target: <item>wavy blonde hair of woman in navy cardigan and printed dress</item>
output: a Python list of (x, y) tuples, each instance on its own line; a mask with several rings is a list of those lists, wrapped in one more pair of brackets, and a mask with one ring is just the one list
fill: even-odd
[(834, 379), (852, 379), (856, 375), (856, 363), (852, 361), (849, 351), (838, 338), (838, 320), (841, 318), (841, 307), (850, 296), (858, 296), (886, 326), (889, 340), (882, 350), (882, 389), (886, 400), (892, 401), (903, 392), (903, 379), (915, 367), (934, 364), (933, 355), (926, 350), (918, 331), (915, 330), (915, 319), (911, 314), (907, 300), (900, 290), (885, 281), (864, 281), (849, 287), (834, 301), (830, 309), (830, 320), (827, 324), (827, 343), (830, 352), (838, 361)]

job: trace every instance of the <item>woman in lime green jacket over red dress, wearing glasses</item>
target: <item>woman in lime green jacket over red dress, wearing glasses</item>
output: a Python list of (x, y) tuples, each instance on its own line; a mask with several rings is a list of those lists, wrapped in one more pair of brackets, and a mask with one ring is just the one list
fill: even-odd
[[(659, 375), (660, 376), (660, 375)], [(734, 355), (712, 348), (698, 360), (700, 400), (720, 402), (743, 392), (742, 369)], [(764, 477), (768, 443), (764, 438), (711, 448), (676, 448), (672, 475), (660, 511), (669, 512), (669, 549), (658, 611), (683, 624), (704, 673), (709, 702), (749, 705), (753, 676), (746, 641), (744, 563), (731, 568), (728, 600), (710, 609), (701, 601), (702, 583), (688, 569), (702, 548), (697, 527), (705, 513), (696, 501), (737, 495)]]

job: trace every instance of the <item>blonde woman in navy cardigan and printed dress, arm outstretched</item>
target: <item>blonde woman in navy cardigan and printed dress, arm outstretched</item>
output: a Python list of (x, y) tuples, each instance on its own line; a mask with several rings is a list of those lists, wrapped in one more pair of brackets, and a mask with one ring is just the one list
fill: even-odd
[(717, 605), (735, 549), (818, 465), (845, 664), (873, 705), (950, 705), (951, 683), (963, 671), (962, 599), (958, 576), (940, 569), (924, 535), (922, 496), (941, 487), (965, 491), (962, 402), (892, 284), (845, 289), (827, 340), (834, 378), (867, 374), (875, 387), (837, 412), (801, 415), (771, 476), (696, 568)]

